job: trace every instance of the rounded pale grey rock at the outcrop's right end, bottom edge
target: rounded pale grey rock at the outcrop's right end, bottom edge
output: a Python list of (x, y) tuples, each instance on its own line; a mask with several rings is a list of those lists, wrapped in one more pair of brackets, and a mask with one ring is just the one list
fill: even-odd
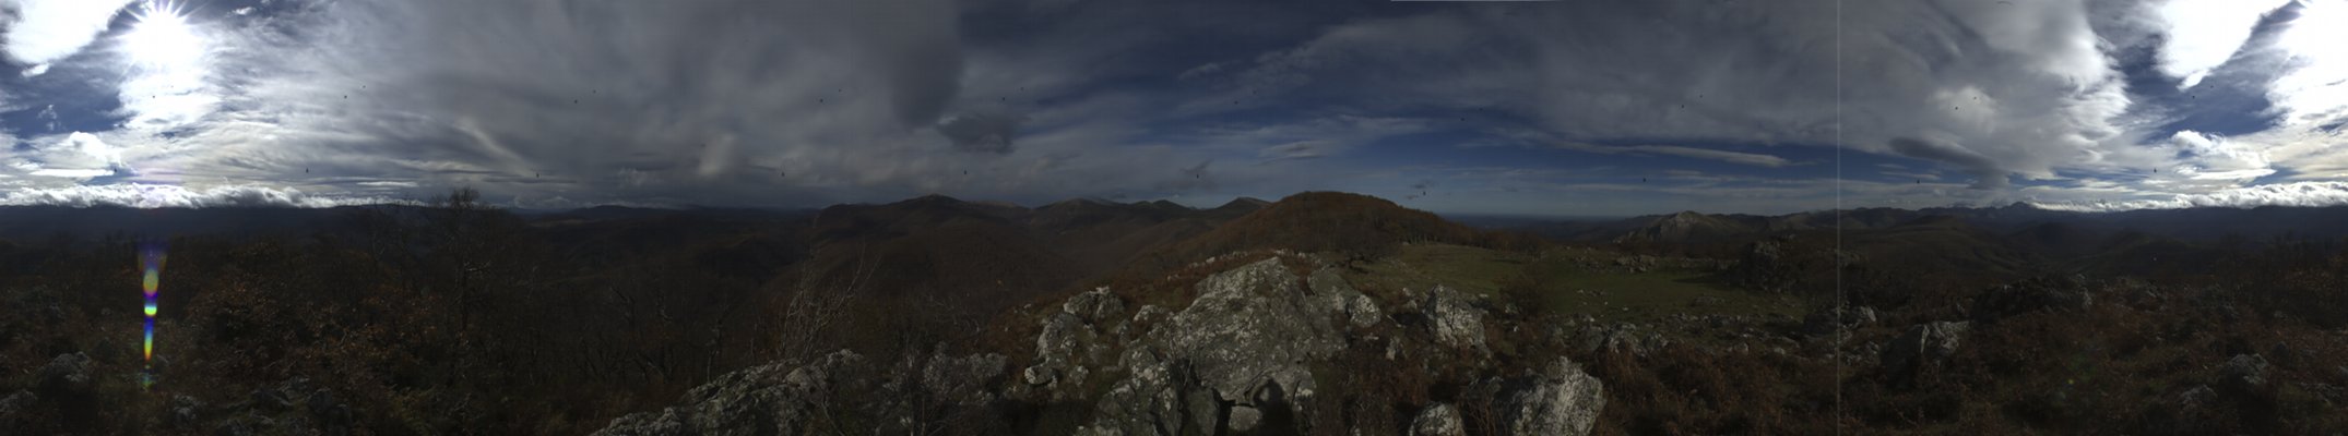
[(1604, 408), (1604, 382), (1559, 356), (1531, 384), (1505, 398), (1500, 417), (1507, 434), (1590, 434)]

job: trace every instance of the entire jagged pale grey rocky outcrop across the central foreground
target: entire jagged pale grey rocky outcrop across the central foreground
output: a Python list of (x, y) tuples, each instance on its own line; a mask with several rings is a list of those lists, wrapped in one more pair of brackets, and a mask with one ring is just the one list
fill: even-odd
[[(1132, 307), (1108, 288), (1078, 293), (1043, 314), (1026, 368), (1010, 370), (1005, 356), (984, 354), (871, 370), (864, 356), (838, 352), (723, 375), (679, 406), (613, 420), (599, 434), (805, 434), (819, 420), (859, 410), (857, 422), (878, 422), (885, 434), (939, 422), (937, 413), (913, 408), (923, 401), (904, 398), (932, 398), (925, 401), (932, 410), (963, 413), (1089, 408), (1082, 424), (1038, 429), (1050, 434), (1310, 434), (1317, 429), (1308, 422), (1322, 413), (1313, 408), (1324, 389), (1317, 380), (1336, 377), (1315, 377), (1315, 368), (1327, 368), (1348, 347), (1385, 349), (1388, 361), (1406, 361), (1402, 366), (1413, 370), (1465, 373), (1489, 389), (1482, 398), (1496, 406), (1491, 424), (1510, 434), (1587, 434), (1604, 408), (1599, 380), (1564, 359), (1531, 375), (1493, 377), (1477, 375), (1493, 368), (1491, 359), (1397, 356), (1395, 347), (1491, 354), (1486, 335), (1512, 328), (1491, 326), (1496, 314), (1460, 291), (1435, 286), (1406, 295), (1397, 312), (1409, 316), (1388, 316), (1376, 298), (1338, 274), (1343, 267), (1322, 263), (1310, 274), (1294, 274), (1284, 260), (1298, 258), (1205, 277), (1193, 288), (1197, 298), (1176, 302), (1179, 309)], [(1352, 359), (1376, 356), (1364, 349)], [(1430, 406), (1409, 424), (1413, 434), (1463, 434), (1465, 415)]]

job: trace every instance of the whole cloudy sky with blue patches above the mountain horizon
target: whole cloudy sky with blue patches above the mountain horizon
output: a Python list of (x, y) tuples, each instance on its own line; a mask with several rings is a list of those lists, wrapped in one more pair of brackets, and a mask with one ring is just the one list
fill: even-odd
[(0, 0), (0, 204), (2348, 204), (2348, 0)]

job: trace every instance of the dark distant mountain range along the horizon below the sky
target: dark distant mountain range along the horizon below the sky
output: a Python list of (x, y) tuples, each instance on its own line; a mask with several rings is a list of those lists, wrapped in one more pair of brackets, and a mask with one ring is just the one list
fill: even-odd
[[(0, 241), (42, 246), (207, 237), (310, 237), (355, 232), (350, 216), (418, 206), (340, 209), (66, 209), (0, 206)], [(1066, 199), (1043, 206), (930, 195), (892, 204), (826, 209), (629, 209), (517, 211), (533, 237), (587, 267), (683, 265), (754, 281), (836, 279), (890, 267), (885, 288), (1061, 288), (1139, 263), (1181, 265), (1244, 248), (1343, 251), (1402, 241), (1477, 244), (1491, 230), (1568, 244), (1738, 258), (1749, 244), (1782, 241), (1902, 263), (1984, 272), (2151, 270), (2219, 256), (2217, 244), (2278, 237), (2348, 237), (2348, 206), (2167, 209), (2078, 213), (2029, 204), (1996, 209), (1853, 209), (1787, 216), (1667, 213), (1620, 220), (1444, 218), (1385, 199), (1303, 192), (1282, 202), (1233, 199), (1214, 209), (1174, 202)], [(1475, 223), (1475, 225), (1463, 225)], [(1841, 232), (1836, 232), (1841, 230)], [(956, 263), (939, 263), (939, 260)], [(984, 260), (984, 263), (970, 263)], [(984, 293), (979, 293), (984, 295)], [(1017, 298), (1007, 298), (1017, 300)]]

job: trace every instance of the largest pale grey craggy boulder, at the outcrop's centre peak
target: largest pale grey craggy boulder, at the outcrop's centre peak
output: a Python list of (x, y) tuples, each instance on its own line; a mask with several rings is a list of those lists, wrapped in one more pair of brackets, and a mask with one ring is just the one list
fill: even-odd
[(1085, 434), (1291, 431), (1320, 389), (1310, 363), (1341, 352), (1348, 326), (1381, 319), (1331, 270), (1301, 279), (1268, 258), (1212, 274), (1190, 307), (1125, 345), (1125, 377)]

